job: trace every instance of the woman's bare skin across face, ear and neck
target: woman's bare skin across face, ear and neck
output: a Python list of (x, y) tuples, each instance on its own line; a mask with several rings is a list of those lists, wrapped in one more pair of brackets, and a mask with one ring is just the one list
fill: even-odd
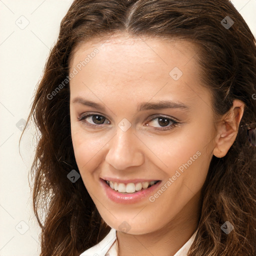
[[(210, 93), (198, 79), (193, 57), (197, 48), (191, 42), (119, 33), (103, 42), (94, 39), (77, 46), (70, 70), (95, 47), (99, 52), (70, 80), (71, 136), (81, 178), (101, 217), (117, 230), (118, 255), (174, 255), (197, 228), (201, 187), (210, 160), (213, 154), (224, 156), (232, 145), (244, 105), (235, 99), (230, 112), (216, 122)], [(169, 75), (175, 66), (183, 73), (178, 80)], [(77, 96), (105, 110), (72, 103)], [(157, 100), (179, 101), (188, 108), (137, 111), (139, 103)], [(79, 121), (85, 113), (105, 119), (100, 124), (92, 117)], [(151, 121), (153, 115), (179, 124), (157, 131), (173, 123)], [(123, 118), (131, 124), (126, 131), (118, 127)], [(97, 127), (91, 128), (86, 121)], [(196, 151), (200, 156), (154, 202), (118, 204), (108, 199), (99, 184), (102, 176), (165, 183)], [(129, 224), (127, 232), (118, 228), (123, 221)]]

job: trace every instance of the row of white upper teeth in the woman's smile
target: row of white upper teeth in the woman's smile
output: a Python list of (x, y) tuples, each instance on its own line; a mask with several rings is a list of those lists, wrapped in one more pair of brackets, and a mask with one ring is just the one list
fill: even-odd
[(108, 181), (106, 180), (106, 183), (114, 190), (118, 190), (118, 192), (126, 192), (126, 193), (133, 193), (135, 191), (141, 190), (142, 188), (147, 188), (149, 185), (153, 185), (156, 183), (157, 180), (152, 181), (143, 181), (138, 183), (127, 183), (126, 185), (124, 183), (117, 183), (114, 181)]

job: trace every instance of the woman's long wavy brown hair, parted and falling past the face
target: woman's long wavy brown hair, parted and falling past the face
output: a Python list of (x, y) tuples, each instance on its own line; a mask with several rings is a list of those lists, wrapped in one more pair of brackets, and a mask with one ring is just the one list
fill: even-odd
[[(75, 46), (121, 31), (193, 41), (214, 113), (226, 113), (235, 98), (245, 103), (234, 143), (224, 157), (212, 156), (188, 256), (256, 255), (256, 147), (244, 136), (246, 124), (256, 122), (256, 42), (242, 16), (228, 0), (74, 0), (28, 116), (40, 131), (31, 166), (34, 212), (42, 229), (40, 256), (79, 255), (110, 230), (82, 179), (72, 183), (67, 178), (72, 169), (79, 172), (70, 133), (68, 74)], [(234, 227), (229, 234), (220, 228), (227, 220)]]

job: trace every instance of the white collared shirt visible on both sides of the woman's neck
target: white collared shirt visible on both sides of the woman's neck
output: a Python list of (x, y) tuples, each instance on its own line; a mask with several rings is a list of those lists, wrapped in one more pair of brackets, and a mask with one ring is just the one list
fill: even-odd
[[(174, 254), (174, 256), (187, 256), (187, 252), (195, 238), (197, 230), (186, 241), (186, 243)], [(80, 256), (118, 256), (116, 230), (111, 228), (109, 233), (99, 243), (85, 250)]]

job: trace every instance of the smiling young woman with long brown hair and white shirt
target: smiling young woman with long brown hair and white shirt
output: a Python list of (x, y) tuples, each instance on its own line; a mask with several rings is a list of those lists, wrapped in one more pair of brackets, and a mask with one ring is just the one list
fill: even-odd
[(256, 255), (256, 44), (230, 1), (74, 0), (28, 119), (41, 256)]

